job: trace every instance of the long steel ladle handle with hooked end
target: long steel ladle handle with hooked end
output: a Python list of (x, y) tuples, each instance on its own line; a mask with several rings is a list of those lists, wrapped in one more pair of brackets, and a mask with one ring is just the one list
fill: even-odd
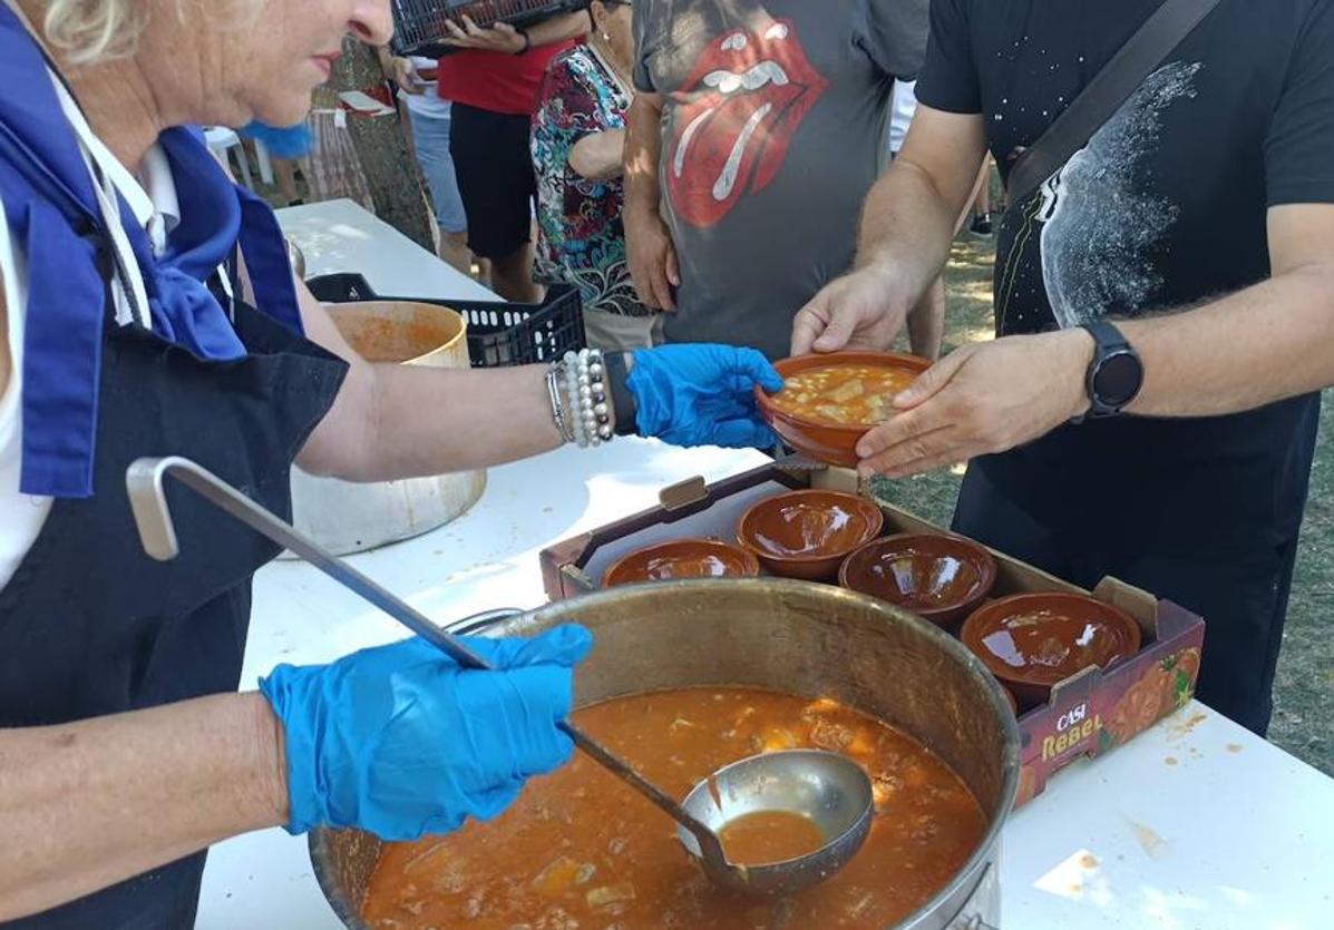
[[(442, 630), (416, 608), (391, 594), (313, 540), (296, 532), (289, 524), (255, 504), (255, 501), (241, 494), (204, 466), (180, 456), (139, 458), (131, 462), (129, 469), (125, 472), (125, 489), (129, 493), (129, 506), (135, 516), (135, 525), (139, 529), (139, 538), (143, 542), (144, 552), (151, 557), (159, 561), (168, 561), (180, 554), (176, 525), (172, 522), (171, 508), (167, 504), (167, 494), (163, 489), (163, 480), (168, 474), (260, 536), (268, 537), (280, 546), (292, 550), (344, 588), (360, 594), (364, 600), (436, 646), (462, 668), (492, 668), (490, 662), (468, 649), (462, 640)], [(579, 749), (588, 753), (608, 771), (662, 807), (672, 819), (690, 830), (695, 835), (695, 839), (699, 841), (700, 850), (704, 851), (706, 858), (712, 854), (716, 854), (719, 859), (723, 858), (722, 845), (714, 831), (635, 771), (630, 763), (594, 741), (574, 723), (562, 721), (556, 726), (564, 730)]]

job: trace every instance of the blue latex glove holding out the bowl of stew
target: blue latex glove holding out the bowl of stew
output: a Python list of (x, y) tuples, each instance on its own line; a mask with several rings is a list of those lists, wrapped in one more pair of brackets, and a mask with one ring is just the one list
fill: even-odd
[(636, 349), (626, 384), (639, 405), (640, 436), (683, 446), (778, 445), (760, 420), (754, 388), (772, 393), (783, 378), (755, 349), (706, 344)]

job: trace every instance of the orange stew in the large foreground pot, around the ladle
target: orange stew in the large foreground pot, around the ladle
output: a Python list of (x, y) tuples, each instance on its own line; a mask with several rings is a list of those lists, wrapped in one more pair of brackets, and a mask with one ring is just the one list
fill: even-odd
[(384, 847), (362, 914), (378, 930), (880, 930), (926, 903), (986, 833), (976, 799), (898, 730), (830, 699), (691, 688), (606, 701), (574, 721), (675, 797), (759, 751), (819, 747), (866, 766), (876, 817), (828, 882), (756, 901), (714, 890), (675, 825), (582, 753), (506, 814)]

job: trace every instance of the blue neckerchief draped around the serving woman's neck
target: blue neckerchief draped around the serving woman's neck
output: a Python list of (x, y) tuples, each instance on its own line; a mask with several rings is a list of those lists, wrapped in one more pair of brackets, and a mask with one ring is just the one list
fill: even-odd
[[(27, 494), (88, 497), (96, 453), (107, 280), (113, 254), (88, 168), (36, 43), (0, 4), (0, 200), (28, 258), (23, 360), (23, 477)], [(256, 304), (301, 332), (287, 245), (273, 212), (231, 183), (201, 133), (159, 137), (181, 221), (155, 256), (124, 199), (121, 224), (139, 261), (155, 333), (204, 360), (245, 354), (205, 281), (237, 244)], [(104, 246), (103, 246), (104, 244)], [(101, 246), (101, 248), (99, 248)]]

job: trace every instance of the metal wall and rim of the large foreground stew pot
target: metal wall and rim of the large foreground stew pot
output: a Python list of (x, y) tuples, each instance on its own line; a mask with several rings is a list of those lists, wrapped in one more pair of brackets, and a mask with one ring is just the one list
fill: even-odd
[[(999, 925), (1000, 827), (1018, 782), (1019, 730), (999, 685), (955, 640), (883, 601), (775, 578), (618, 588), (484, 626), (496, 636), (531, 634), (570, 621), (588, 626), (598, 644), (578, 673), (578, 706), (690, 685), (748, 685), (834, 697), (916, 737), (967, 782), (988, 829), (950, 885), (895, 930)], [(359, 911), (380, 841), (316, 830), (309, 846), (335, 913), (370, 930)]]

